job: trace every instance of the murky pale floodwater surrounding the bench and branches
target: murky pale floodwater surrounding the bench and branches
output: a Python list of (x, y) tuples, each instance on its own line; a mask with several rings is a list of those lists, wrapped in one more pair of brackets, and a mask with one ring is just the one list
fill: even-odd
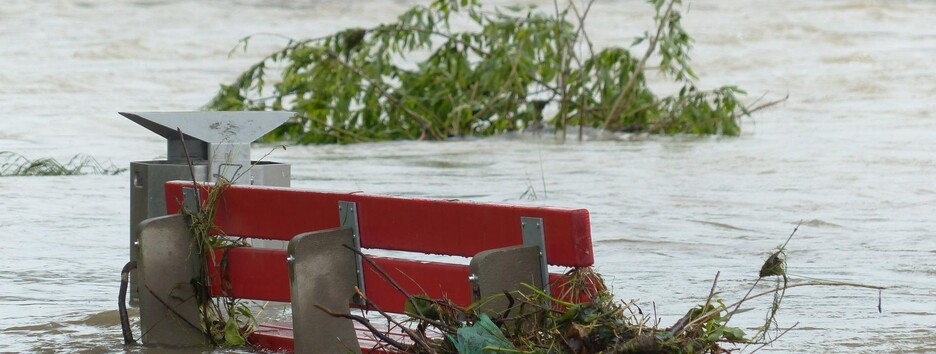
[[(116, 112), (198, 109), (283, 44), (258, 37), (229, 58), (243, 36), (369, 26), (407, 3), (5, 0), (0, 151), (158, 158), (161, 138)], [(641, 1), (598, 1), (589, 33), (629, 45), (648, 15)], [(790, 96), (740, 137), (517, 135), (291, 146), (270, 159), (292, 164), (299, 188), (587, 208), (598, 270), (663, 325), (704, 302), (717, 272), (721, 296), (740, 298), (802, 221), (789, 272), (886, 286), (883, 311), (875, 290), (791, 289), (778, 321), (796, 326), (765, 350), (936, 352), (934, 16), (924, 0), (691, 1), (701, 87)], [(0, 352), (128, 350), (116, 316), (128, 178), (0, 178)], [(759, 325), (768, 302), (735, 324)]]

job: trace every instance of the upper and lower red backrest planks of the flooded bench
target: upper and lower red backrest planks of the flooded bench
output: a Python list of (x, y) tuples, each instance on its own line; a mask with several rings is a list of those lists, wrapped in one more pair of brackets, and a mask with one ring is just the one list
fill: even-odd
[[(169, 214), (179, 211), (182, 188), (191, 186), (191, 182), (182, 181), (166, 184)], [(203, 198), (206, 194), (202, 193)], [(362, 248), (471, 257), (480, 251), (522, 244), (520, 219), (535, 217), (543, 219), (549, 264), (585, 267), (594, 262), (588, 211), (584, 209), (230, 186), (216, 206), (215, 224), (226, 235), (288, 241), (300, 233), (339, 227), (339, 201), (357, 205)], [(463, 305), (471, 301), (467, 266), (372, 258), (412, 294), (444, 295)], [(231, 250), (227, 254), (227, 291), (221, 289), (218, 270), (209, 265), (214, 275), (213, 293), (289, 301), (285, 259), (284, 250)], [(369, 299), (384, 310), (402, 312), (403, 295), (367, 264), (364, 281)]]

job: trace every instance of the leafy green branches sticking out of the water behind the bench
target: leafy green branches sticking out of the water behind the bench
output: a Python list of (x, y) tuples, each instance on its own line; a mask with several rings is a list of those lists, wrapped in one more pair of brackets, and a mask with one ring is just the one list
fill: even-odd
[[(347, 143), (445, 139), (538, 130), (546, 125), (661, 134), (740, 132), (744, 92), (698, 90), (689, 66), (692, 38), (680, 25), (681, 0), (650, 0), (657, 24), (634, 45), (593, 52), (587, 10), (572, 2), (546, 14), (532, 7), (482, 9), (477, 0), (432, 0), (396, 22), (290, 40), (221, 85), (211, 110), (292, 110), (297, 116), (265, 139)], [(463, 18), (470, 30), (454, 31)], [(241, 42), (246, 50), (251, 37)], [(589, 48), (577, 54), (578, 47)], [(645, 67), (680, 84), (659, 97)], [(278, 79), (271, 80), (271, 72)]]

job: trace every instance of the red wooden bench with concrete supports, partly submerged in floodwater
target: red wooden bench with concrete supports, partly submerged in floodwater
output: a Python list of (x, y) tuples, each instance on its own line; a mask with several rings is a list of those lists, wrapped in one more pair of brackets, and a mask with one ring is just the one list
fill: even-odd
[[(193, 191), (191, 187), (190, 182), (166, 184), (166, 204), (170, 215), (179, 212), (180, 206), (184, 203), (184, 194), (186, 192), (191, 194)], [(185, 191), (185, 189), (189, 190)], [(206, 193), (201, 194), (204, 198)], [(490, 268), (485, 270), (488, 263), (497, 262), (492, 260), (497, 257), (501, 257), (502, 262), (504, 257), (511, 259), (519, 257), (515, 256), (519, 254), (516, 252), (528, 254), (529, 248), (532, 247), (537, 260), (549, 265), (587, 267), (594, 262), (588, 212), (584, 209), (230, 186), (224, 191), (215, 210), (217, 213), (215, 224), (226, 235), (291, 241), (289, 249), (291, 254), (287, 254), (286, 250), (257, 247), (228, 251), (225, 256), (224, 281), (222, 281), (219, 266), (211, 262), (210, 257), (207, 258), (208, 261), (205, 264), (212, 277), (213, 296), (293, 301), (295, 330), (303, 332), (303, 335), (299, 336), (301, 340), (295, 342), (295, 349), (299, 352), (309, 350), (327, 352), (328, 350), (323, 348), (328, 348), (324, 346), (328, 344), (323, 344), (322, 341), (343, 335), (322, 331), (322, 329), (331, 330), (332, 327), (337, 326), (343, 328), (338, 332), (344, 331), (344, 334), (347, 334), (347, 328), (351, 328), (349, 320), (327, 315), (323, 317), (321, 311), (310, 309), (312, 305), (327, 302), (322, 299), (323, 296), (328, 297), (319, 294), (322, 286), (321, 284), (316, 286), (315, 281), (311, 280), (313, 278), (329, 274), (334, 276), (332, 273), (340, 273), (342, 270), (350, 273), (346, 272), (339, 278), (355, 278), (350, 279), (348, 283), (350, 293), (347, 292), (348, 289), (345, 286), (339, 291), (339, 295), (331, 295), (340, 297), (343, 296), (340, 294), (348, 294), (346, 298), (338, 301), (344, 303), (344, 306), (337, 306), (336, 303), (332, 303), (331, 306), (339, 308), (326, 306), (332, 311), (347, 309), (354, 286), (361, 288), (367, 299), (382, 310), (397, 313), (404, 311), (405, 296), (394, 289), (367, 262), (361, 262), (353, 252), (343, 249), (342, 244), (352, 248), (359, 246), (365, 253), (367, 249), (463, 257), (475, 257), (481, 253), (480, 257), (473, 259), (470, 266), (405, 258), (368, 257), (388, 272), (409, 293), (430, 298), (444, 297), (463, 306), (469, 305), (473, 297), (478, 298), (505, 290), (498, 287), (507, 285), (497, 283), (498, 281), (503, 283), (504, 280), (495, 279), (493, 283), (490, 281), (501, 275), (490, 275), (492, 274)], [(162, 316), (166, 316), (167, 312), (171, 312), (172, 316), (179, 317), (183, 322), (198, 323), (197, 317), (192, 319), (190, 314), (186, 315), (180, 311), (183, 308), (190, 310), (192, 307), (191, 304), (185, 303), (185, 294), (182, 294), (184, 291), (180, 291), (178, 287), (179, 283), (190, 279), (187, 277), (192, 275), (191, 272), (182, 269), (184, 268), (182, 265), (173, 264), (172, 261), (157, 260), (162, 259), (160, 257), (171, 258), (172, 256), (167, 256), (165, 253), (175, 247), (174, 259), (177, 260), (175, 263), (186, 263), (178, 261), (184, 259), (178, 254), (184, 247), (178, 244), (185, 242), (184, 236), (178, 237), (179, 240), (175, 241), (175, 246), (166, 246), (166, 240), (173, 238), (168, 234), (183, 232), (185, 225), (179, 221), (179, 218), (181, 217), (169, 216), (156, 218), (158, 220), (150, 219), (144, 222), (144, 225), (148, 227), (141, 227), (143, 229), (140, 235), (141, 273), (143, 273), (143, 282), (147, 285), (147, 289), (141, 291), (141, 293), (147, 293), (141, 296), (141, 322), (144, 331), (157, 334), (151, 336), (154, 338), (162, 329), (147, 327), (148, 325), (159, 327), (159, 325), (153, 324), (155, 320), (147, 320), (144, 317), (155, 318), (160, 312)], [(528, 246), (516, 247), (524, 244)], [(541, 246), (536, 246), (537, 244)], [(520, 248), (527, 251), (515, 250)], [(545, 248), (545, 259), (539, 257), (539, 250), (542, 248)], [(333, 256), (341, 259), (314, 263), (315, 259)], [(221, 257), (216, 258), (216, 260), (220, 259)], [(344, 262), (343, 265), (335, 265), (341, 262)], [(326, 266), (332, 268), (320, 269)], [(521, 272), (519, 276), (525, 282), (542, 284), (545, 264), (537, 266), (537, 271), (532, 273), (529, 268), (517, 271)], [(158, 269), (160, 267), (180, 269)], [(518, 268), (523, 267), (518, 266)], [(359, 270), (359, 275), (355, 273), (356, 270)], [(292, 286), (290, 271), (294, 272)], [(171, 274), (165, 274), (167, 272)], [(481, 279), (469, 282), (469, 277), (472, 276)], [(546, 277), (556, 279), (559, 276), (550, 274)], [(166, 279), (172, 277), (175, 279)], [(508, 276), (509, 281), (518, 281), (518, 279), (510, 280), (510, 277), (517, 278), (518, 275)], [(488, 281), (486, 282), (485, 279)], [(321, 283), (321, 280), (319, 282)], [(163, 283), (170, 283), (170, 285)], [(221, 284), (225, 286), (222, 287)], [(152, 289), (154, 287), (161, 289), (154, 291)], [(167, 303), (166, 298), (155, 299), (160, 297), (160, 291), (174, 292), (175, 294), (169, 300), (177, 299), (178, 303)], [(316, 293), (308, 294), (309, 291)], [(553, 289), (553, 291), (559, 291), (559, 289)], [(158, 310), (149, 311), (144, 307), (158, 308)], [(172, 310), (166, 308), (172, 308)], [(186, 316), (189, 318), (186, 319)], [(313, 328), (307, 328), (309, 326)], [(192, 327), (191, 324), (189, 327)], [(325, 338), (306, 335), (307, 331), (324, 332)], [(294, 348), (291, 332), (287, 325), (261, 325), (250, 340), (255, 345), (266, 349), (288, 351)], [(178, 334), (174, 336), (179, 337)], [(307, 338), (311, 339), (306, 340)], [(332, 343), (332, 345), (347, 349), (348, 341), (353, 340), (344, 336), (340, 338), (340, 343)], [(147, 338), (144, 338), (144, 342), (159, 344), (160, 341), (159, 339), (147, 341)], [(372, 349), (372, 345), (363, 342), (360, 344), (364, 351)], [(332, 348), (338, 348), (337, 346)]]

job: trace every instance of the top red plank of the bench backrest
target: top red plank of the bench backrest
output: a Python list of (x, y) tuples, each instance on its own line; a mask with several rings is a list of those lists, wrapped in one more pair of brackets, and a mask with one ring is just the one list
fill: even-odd
[[(179, 210), (182, 187), (191, 185), (166, 183), (170, 214)], [(357, 203), (364, 248), (472, 257), (484, 250), (522, 244), (520, 218), (538, 217), (545, 226), (549, 264), (585, 267), (594, 263), (584, 209), (231, 186), (218, 203), (215, 224), (228, 235), (289, 240), (303, 232), (340, 226), (338, 201)]]

